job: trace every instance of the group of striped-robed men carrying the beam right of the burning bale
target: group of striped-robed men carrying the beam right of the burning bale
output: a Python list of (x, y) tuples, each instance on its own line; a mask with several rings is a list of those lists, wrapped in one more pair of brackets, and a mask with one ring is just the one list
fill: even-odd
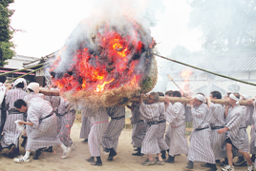
[[(222, 99), (219, 91), (212, 91), (205, 98), (198, 93), (189, 99), (189, 104), (180, 102), (169, 103), (168, 96), (181, 97), (179, 91), (167, 91), (164, 103), (159, 103), (160, 92), (151, 92), (147, 101), (134, 103), (130, 108), (133, 111), (132, 123), (133, 145), (138, 152), (133, 155), (146, 154), (147, 161), (143, 165), (164, 164), (166, 151), (168, 159), (165, 162), (174, 163), (175, 157), (181, 154), (187, 156), (187, 166), (184, 170), (193, 170), (194, 162), (205, 162), (203, 167), (208, 171), (218, 170), (216, 162), (221, 162), (223, 171), (233, 171), (233, 158), (238, 156), (236, 165), (248, 165), (247, 171), (254, 170), (255, 161), (255, 102), (248, 100), (248, 96), (239, 93), (227, 93), (225, 99), (229, 104), (213, 104), (212, 99)], [(206, 101), (207, 99), (207, 101)], [(247, 100), (246, 106), (240, 105), (240, 100)], [(161, 124), (169, 123), (165, 129)], [(189, 146), (185, 138), (185, 123), (193, 122), (193, 130), (189, 139)], [(251, 126), (249, 143), (246, 128)], [(163, 144), (165, 143), (165, 145)], [(250, 154), (252, 156), (250, 157)], [(153, 155), (158, 156), (154, 161)]]

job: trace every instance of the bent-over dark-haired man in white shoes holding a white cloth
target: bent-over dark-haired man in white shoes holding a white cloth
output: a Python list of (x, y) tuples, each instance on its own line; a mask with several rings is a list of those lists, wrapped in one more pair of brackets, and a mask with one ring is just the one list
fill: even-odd
[(27, 122), (18, 122), (19, 124), (26, 124), (28, 135), (26, 153), (20, 158), (15, 158), (14, 162), (29, 162), (31, 151), (52, 145), (59, 145), (63, 149), (61, 158), (67, 158), (71, 148), (61, 143), (57, 137), (57, 117), (48, 101), (35, 97), (27, 105), (25, 101), (18, 99), (14, 106), (19, 112), (28, 114)]

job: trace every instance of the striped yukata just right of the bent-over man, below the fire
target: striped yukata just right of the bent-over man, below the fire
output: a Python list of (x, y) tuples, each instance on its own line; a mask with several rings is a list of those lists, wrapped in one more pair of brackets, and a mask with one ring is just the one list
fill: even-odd
[(70, 133), (75, 121), (75, 108), (70, 107), (70, 104), (61, 98), (58, 112), (62, 116), (59, 139), (65, 146), (69, 147), (73, 143), (72, 139), (70, 138)]

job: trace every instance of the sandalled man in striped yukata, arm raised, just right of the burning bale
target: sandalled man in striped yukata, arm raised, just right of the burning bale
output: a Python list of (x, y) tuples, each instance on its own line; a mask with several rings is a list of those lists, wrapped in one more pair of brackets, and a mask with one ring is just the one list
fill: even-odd
[[(158, 124), (160, 119), (160, 105), (158, 104), (159, 98), (160, 96), (157, 92), (151, 92), (146, 104), (143, 103), (142, 94), (139, 99), (139, 111), (149, 126), (141, 146), (141, 153), (148, 157), (147, 161), (142, 162), (142, 165), (145, 166), (164, 164), (164, 161), (161, 159), (160, 146), (158, 143)], [(153, 161), (153, 155), (155, 154), (158, 155), (158, 161), (156, 162)]]

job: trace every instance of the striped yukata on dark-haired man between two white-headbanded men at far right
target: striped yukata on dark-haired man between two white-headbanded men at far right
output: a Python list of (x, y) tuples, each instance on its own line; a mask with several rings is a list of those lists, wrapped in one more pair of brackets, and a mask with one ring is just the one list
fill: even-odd
[(211, 125), (211, 147), (215, 156), (215, 160), (224, 159), (225, 151), (225, 135), (218, 134), (218, 130), (224, 128), (224, 106), (222, 104), (213, 104), (209, 106), (209, 115), (212, 116)]

